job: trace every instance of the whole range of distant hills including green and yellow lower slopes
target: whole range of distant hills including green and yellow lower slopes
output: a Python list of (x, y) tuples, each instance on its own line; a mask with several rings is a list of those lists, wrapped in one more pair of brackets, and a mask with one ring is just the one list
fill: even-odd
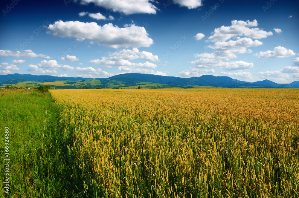
[(88, 86), (89, 88), (299, 88), (299, 81), (290, 84), (278, 84), (270, 80), (246, 82), (228, 76), (202, 75), (200, 77), (180, 78), (143, 73), (124, 73), (109, 78), (58, 77), (31, 74), (7, 74), (0, 76), (0, 87), (53, 85), (56, 88), (72, 89)]

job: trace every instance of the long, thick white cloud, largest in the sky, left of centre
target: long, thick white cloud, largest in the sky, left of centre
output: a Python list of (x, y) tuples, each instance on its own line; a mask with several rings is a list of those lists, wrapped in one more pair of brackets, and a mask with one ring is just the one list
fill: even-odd
[(153, 44), (145, 28), (135, 24), (126, 24), (123, 28), (119, 28), (112, 23), (99, 26), (95, 22), (60, 20), (50, 24), (48, 29), (55, 37), (74, 38), (80, 41), (89, 39), (99, 45), (112, 48), (149, 47)]

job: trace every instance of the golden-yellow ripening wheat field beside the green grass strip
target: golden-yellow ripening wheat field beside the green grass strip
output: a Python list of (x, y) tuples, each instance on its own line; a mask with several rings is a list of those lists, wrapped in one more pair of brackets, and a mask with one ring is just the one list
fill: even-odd
[(50, 90), (90, 197), (298, 197), (298, 89)]

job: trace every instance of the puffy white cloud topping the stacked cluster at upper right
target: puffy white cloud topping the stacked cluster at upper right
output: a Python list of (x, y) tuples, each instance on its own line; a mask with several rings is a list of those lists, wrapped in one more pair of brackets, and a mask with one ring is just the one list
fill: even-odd
[[(272, 32), (266, 32), (257, 28), (257, 20), (250, 22), (245, 21), (231, 21), (231, 26), (221, 26), (212, 32), (212, 36), (208, 38), (211, 42), (225, 41), (236, 36), (246, 36), (253, 39), (262, 39), (273, 35)], [(251, 28), (255, 27), (255, 28)]]

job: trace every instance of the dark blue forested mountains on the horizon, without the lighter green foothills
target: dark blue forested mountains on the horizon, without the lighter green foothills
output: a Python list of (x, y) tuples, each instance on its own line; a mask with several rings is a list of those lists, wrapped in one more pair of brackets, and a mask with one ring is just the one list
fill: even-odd
[[(0, 84), (13, 84), (14, 79), (24, 79), (25, 81), (40, 81), (40, 82), (54, 82), (54, 81), (79, 81), (88, 80), (91, 78), (81, 77), (58, 77), (46, 75), (31, 75), (31, 74), (7, 74), (0, 75)], [(299, 88), (299, 81), (290, 84), (277, 84), (270, 80), (263, 80), (257, 82), (246, 82), (232, 79), (228, 76), (212, 76), (202, 75), (200, 77), (180, 78), (175, 76), (159, 76), (153, 74), (143, 73), (124, 73), (109, 78), (96, 78), (102, 82), (102, 85), (143, 85), (144, 82), (173, 85), (176, 87), (192, 88), (194, 86), (213, 86), (224, 88)]]

